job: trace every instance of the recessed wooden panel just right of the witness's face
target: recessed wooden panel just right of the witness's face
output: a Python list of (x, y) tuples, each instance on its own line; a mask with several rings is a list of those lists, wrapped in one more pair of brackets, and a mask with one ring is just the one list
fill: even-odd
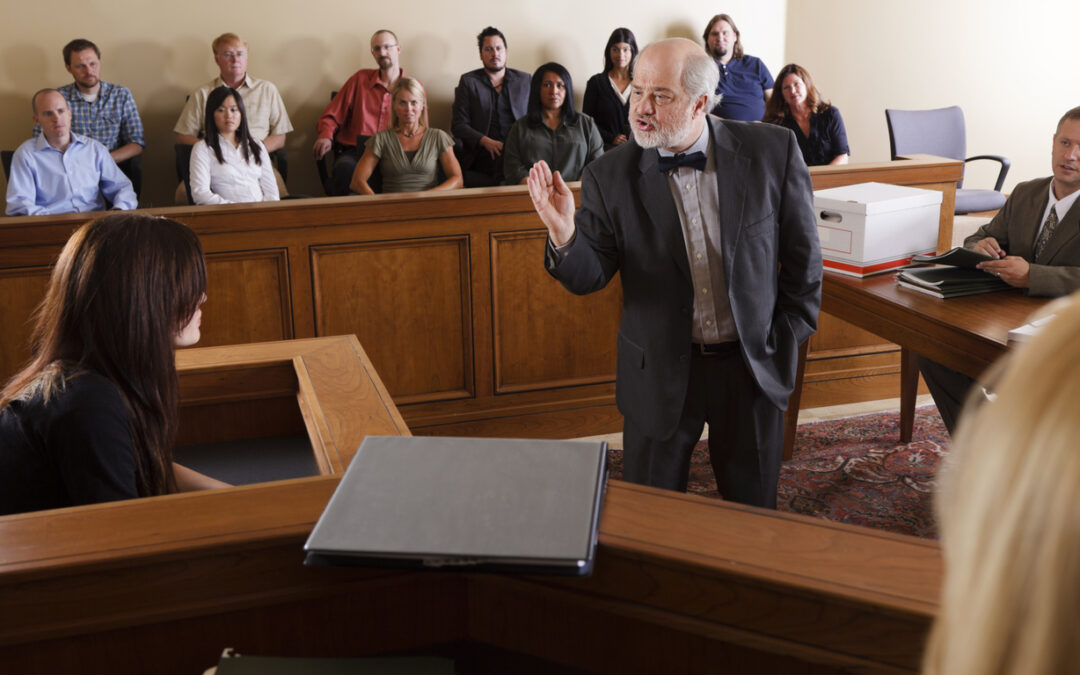
[(206, 254), (202, 347), (294, 337), (286, 253), (272, 248)]

